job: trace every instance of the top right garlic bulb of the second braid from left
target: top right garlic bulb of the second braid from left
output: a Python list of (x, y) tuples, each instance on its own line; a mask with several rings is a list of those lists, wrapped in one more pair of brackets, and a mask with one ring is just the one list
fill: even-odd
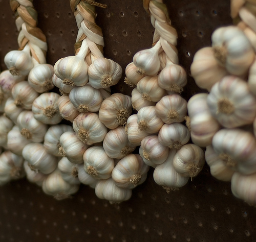
[(115, 61), (97, 58), (88, 68), (89, 81), (94, 88), (106, 88), (118, 83), (122, 67)]

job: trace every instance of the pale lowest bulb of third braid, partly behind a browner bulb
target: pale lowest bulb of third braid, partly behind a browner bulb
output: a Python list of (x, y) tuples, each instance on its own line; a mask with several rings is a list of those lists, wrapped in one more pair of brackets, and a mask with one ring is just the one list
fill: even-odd
[(189, 177), (183, 177), (175, 171), (173, 159), (176, 153), (176, 150), (170, 149), (167, 159), (162, 164), (157, 165), (153, 173), (155, 182), (163, 186), (167, 192), (186, 185), (189, 179)]

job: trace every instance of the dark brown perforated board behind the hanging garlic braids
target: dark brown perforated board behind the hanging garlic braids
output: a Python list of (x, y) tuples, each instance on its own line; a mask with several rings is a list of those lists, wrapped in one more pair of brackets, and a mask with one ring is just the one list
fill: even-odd
[[(103, 0), (96, 22), (103, 30), (104, 55), (123, 70), (133, 55), (151, 46), (153, 27), (142, 0)], [(231, 23), (227, 0), (165, 0), (178, 32), (180, 64), (189, 73), (195, 52), (210, 45), (210, 35)], [(38, 27), (48, 40), (48, 63), (73, 55), (77, 27), (69, 1), (34, 1)], [(0, 63), (17, 49), (17, 31), (9, 1), (0, 0)], [(123, 79), (122, 79), (123, 80)], [(120, 81), (115, 91), (130, 93)], [(202, 91), (192, 78), (184, 95)], [(72, 199), (55, 201), (23, 179), (0, 188), (0, 241), (256, 241), (255, 208), (234, 198), (230, 183), (212, 178), (208, 167), (179, 191), (167, 194), (153, 181), (133, 190), (119, 205), (99, 200), (81, 186)]]

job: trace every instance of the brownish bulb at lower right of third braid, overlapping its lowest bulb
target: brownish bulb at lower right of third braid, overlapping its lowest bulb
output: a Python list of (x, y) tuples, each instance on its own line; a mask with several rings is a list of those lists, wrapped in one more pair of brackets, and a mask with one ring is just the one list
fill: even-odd
[(175, 171), (183, 177), (195, 177), (203, 169), (204, 151), (196, 144), (184, 144), (174, 156)]

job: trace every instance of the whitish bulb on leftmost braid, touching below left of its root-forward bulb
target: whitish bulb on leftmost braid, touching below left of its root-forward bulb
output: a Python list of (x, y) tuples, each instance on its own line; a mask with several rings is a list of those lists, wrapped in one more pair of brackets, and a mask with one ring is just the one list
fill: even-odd
[(48, 126), (34, 118), (32, 111), (22, 111), (17, 117), (20, 134), (32, 142), (44, 141)]

